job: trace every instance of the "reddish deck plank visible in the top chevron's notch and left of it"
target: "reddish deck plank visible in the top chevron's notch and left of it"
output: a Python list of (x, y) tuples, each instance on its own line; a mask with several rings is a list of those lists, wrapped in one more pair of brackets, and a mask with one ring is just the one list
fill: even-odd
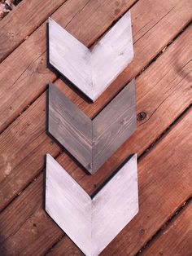
[[(70, 0), (59, 7), (51, 18), (86, 46), (90, 46), (135, 1)], [(47, 68), (44, 23), (0, 64), (0, 131), (37, 99), (55, 78), (55, 73)]]

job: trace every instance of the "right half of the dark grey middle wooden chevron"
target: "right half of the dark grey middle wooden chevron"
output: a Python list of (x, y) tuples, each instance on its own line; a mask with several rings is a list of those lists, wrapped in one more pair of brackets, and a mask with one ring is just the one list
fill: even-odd
[(137, 128), (135, 80), (93, 120), (93, 172), (103, 166)]

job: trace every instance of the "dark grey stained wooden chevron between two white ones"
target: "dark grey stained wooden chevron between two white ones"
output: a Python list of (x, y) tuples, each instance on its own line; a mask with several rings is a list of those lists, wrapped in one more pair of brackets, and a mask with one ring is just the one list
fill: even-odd
[(91, 120), (53, 84), (49, 86), (48, 131), (94, 174), (137, 127), (133, 80)]

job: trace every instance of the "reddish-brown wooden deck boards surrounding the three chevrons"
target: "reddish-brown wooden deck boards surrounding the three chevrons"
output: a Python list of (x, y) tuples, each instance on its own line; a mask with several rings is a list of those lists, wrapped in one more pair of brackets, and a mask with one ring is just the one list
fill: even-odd
[[(51, 16), (92, 46), (131, 9), (134, 60), (94, 104), (47, 68)], [(192, 1), (23, 0), (0, 21), (0, 255), (83, 255), (44, 210), (45, 155), (86, 192), (133, 152), (139, 213), (101, 255), (192, 255)], [(54, 82), (93, 118), (136, 77), (137, 131), (93, 176), (46, 133)]]

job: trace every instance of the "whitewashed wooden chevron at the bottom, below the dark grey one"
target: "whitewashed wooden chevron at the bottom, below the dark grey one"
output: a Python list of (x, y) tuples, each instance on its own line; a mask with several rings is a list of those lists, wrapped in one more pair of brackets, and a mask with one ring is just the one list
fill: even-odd
[(46, 212), (86, 256), (97, 256), (138, 212), (136, 154), (94, 196), (48, 154)]

